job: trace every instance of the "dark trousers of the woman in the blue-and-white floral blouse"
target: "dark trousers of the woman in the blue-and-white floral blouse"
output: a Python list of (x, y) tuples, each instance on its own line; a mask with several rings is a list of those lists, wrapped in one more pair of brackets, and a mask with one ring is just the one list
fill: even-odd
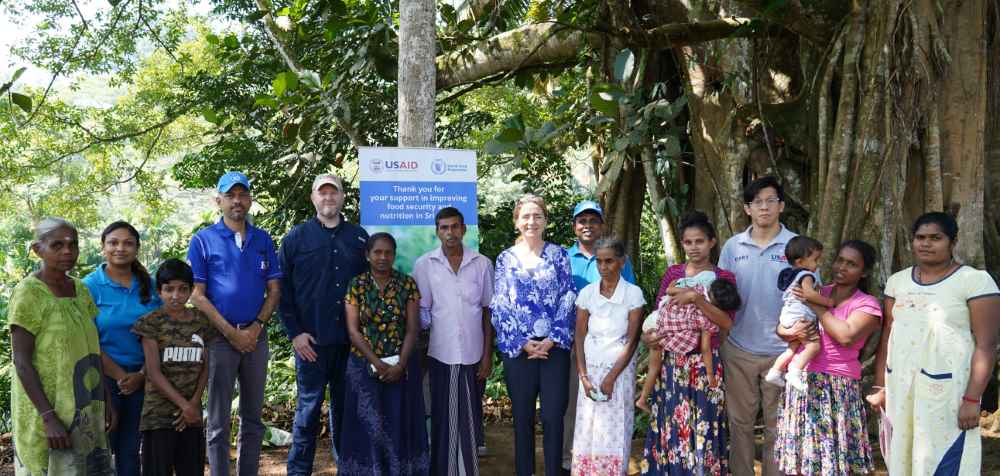
[(528, 359), (524, 352), (504, 357), (504, 379), (514, 413), (514, 461), (517, 476), (535, 472), (535, 401), (541, 398), (545, 475), (562, 471), (563, 415), (569, 388), (569, 351), (553, 347), (548, 359)]

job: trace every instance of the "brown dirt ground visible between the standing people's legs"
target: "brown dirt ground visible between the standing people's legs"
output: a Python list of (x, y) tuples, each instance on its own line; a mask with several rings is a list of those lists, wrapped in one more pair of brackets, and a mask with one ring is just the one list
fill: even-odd
[[(9, 439), (3, 439), (9, 444)], [(642, 440), (632, 442), (632, 458), (629, 461), (629, 474), (639, 474), (638, 458), (642, 455)], [(6, 445), (4, 445), (6, 446)], [(482, 476), (510, 476), (514, 467), (514, 430), (510, 423), (494, 423), (486, 427), (486, 446), (489, 454), (479, 460)], [(542, 470), (542, 442), (540, 435), (535, 443), (535, 470), (537, 475), (544, 474)], [(9, 447), (0, 448), (0, 476), (13, 475), (10, 463)], [(759, 448), (758, 448), (759, 451)], [(878, 457), (876, 449), (876, 457)], [(288, 458), (287, 448), (265, 448), (261, 455), (260, 474), (263, 476), (284, 476), (285, 461)], [(878, 461), (877, 475), (886, 475), (885, 466)], [(205, 474), (208, 474), (206, 470)], [(235, 474), (235, 473), (233, 473)], [(322, 441), (316, 451), (314, 473), (320, 476), (333, 476), (337, 469), (330, 455), (329, 441)], [(758, 464), (759, 474), (759, 464)], [(983, 473), (984, 475), (1000, 476), (1000, 433), (984, 432), (983, 435)], [(374, 476), (374, 475), (373, 475)]]

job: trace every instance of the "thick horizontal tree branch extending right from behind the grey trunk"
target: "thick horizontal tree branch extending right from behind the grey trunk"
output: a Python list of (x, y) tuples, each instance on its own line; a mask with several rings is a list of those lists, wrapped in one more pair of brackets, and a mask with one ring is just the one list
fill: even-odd
[[(260, 1), (260, 0), (258, 0)], [(758, 36), (766, 31), (749, 27), (748, 18), (721, 18), (704, 22), (668, 23), (626, 36), (626, 46), (664, 50), (722, 38)], [(561, 31), (552, 22), (526, 25), (474, 43), (461, 51), (437, 57), (438, 91), (472, 83), (521, 68), (562, 64), (574, 60), (586, 46), (600, 44), (605, 35)]]

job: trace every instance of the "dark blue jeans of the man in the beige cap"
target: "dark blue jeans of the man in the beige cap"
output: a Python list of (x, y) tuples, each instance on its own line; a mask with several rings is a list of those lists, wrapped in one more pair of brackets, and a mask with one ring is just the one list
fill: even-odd
[(344, 370), (350, 345), (313, 345), (316, 361), (307, 362), (295, 354), (295, 383), (298, 399), (292, 424), (292, 448), (288, 451), (288, 475), (312, 474), (316, 456), (316, 433), (326, 388), (330, 387), (330, 436), (333, 459), (340, 448), (340, 427), (344, 415)]

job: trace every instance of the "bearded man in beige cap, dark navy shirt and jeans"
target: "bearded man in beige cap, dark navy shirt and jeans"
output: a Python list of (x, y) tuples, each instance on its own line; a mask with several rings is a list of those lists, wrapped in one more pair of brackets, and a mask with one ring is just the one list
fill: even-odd
[(310, 195), (316, 217), (281, 240), (281, 322), (295, 349), (298, 400), (288, 452), (288, 475), (312, 474), (316, 433), (330, 387), (330, 437), (336, 455), (344, 414), (344, 370), (350, 355), (344, 295), (351, 278), (368, 269), (368, 232), (348, 223), (340, 177), (322, 174)]

